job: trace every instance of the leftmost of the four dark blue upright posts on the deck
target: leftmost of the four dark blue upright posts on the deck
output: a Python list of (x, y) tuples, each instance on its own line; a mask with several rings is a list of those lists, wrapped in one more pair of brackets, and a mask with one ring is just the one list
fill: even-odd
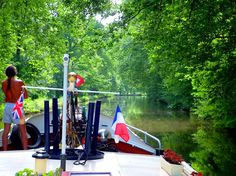
[(49, 143), (49, 101), (44, 101), (44, 149), (49, 153), (50, 143)]

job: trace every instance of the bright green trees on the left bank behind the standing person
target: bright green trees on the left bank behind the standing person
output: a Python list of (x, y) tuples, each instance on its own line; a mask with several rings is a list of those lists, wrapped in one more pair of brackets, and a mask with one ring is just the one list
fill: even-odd
[[(0, 3), (1, 70), (13, 63), (26, 85), (61, 88), (62, 58), (68, 53), (70, 71), (80, 73), (87, 80), (84, 88), (110, 88), (104, 86), (103, 80), (112, 74), (109, 70), (104, 71), (107, 65), (101, 67), (106, 54), (103, 52), (104, 57), (99, 54), (107, 32), (94, 19), (95, 14), (110, 7), (108, 0), (62, 3), (11, 0)], [(97, 76), (102, 74), (104, 77)], [(4, 79), (3, 73), (0, 78)], [(60, 96), (60, 93), (30, 91), (33, 99), (45, 95)]]

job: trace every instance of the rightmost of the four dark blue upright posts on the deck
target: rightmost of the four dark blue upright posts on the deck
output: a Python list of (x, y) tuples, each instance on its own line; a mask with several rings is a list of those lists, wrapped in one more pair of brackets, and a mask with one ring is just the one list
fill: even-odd
[(94, 117), (94, 128), (93, 128), (93, 141), (91, 146), (91, 152), (97, 153), (97, 137), (98, 137), (98, 128), (99, 128), (99, 118), (100, 118), (100, 109), (101, 109), (101, 101), (96, 102), (96, 109), (95, 109), (95, 117)]

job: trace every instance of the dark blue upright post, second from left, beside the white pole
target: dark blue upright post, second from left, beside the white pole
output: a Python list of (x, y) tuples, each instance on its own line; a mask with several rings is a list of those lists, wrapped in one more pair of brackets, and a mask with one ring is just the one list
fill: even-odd
[(52, 125), (53, 125), (53, 151), (59, 150), (58, 136), (58, 101), (57, 98), (52, 99)]

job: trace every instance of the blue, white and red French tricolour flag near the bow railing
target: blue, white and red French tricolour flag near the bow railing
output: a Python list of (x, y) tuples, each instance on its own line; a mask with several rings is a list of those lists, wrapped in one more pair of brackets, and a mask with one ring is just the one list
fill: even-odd
[(114, 130), (115, 141), (118, 136), (121, 137), (125, 142), (129, 141), (129, 132), (119, 105), (116, 107), (116, 114), (112, 123), (112, 129)]

